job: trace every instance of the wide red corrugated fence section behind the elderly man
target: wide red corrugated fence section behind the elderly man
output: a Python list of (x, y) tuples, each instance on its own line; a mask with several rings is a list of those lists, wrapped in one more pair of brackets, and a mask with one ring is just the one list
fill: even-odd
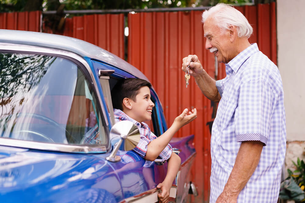
[[(236, 7), (253, 26), (250, 43), (276, 64), (275, 3)], [(196, 107), (197, 119), (181, 128), (175, 137), (195, 134), (196, 161), (192, 179), (198, 185), (199, 196), (192, 201), (208, 202), (210, 192), (210, 128), (217, 104), (206, 99), (193, 78), (185, 87), (181, 72), (182, 58), (196, 54), (207, 73), (215, 75), (214, 55), (205, 50), (202, 11), (152, 12), (128, 14), (128, 62), (140, 69), (152, 82), (168, 126), (184, 108)], [(218, 65), (217, 79), (225, 77), (224, 64)]]

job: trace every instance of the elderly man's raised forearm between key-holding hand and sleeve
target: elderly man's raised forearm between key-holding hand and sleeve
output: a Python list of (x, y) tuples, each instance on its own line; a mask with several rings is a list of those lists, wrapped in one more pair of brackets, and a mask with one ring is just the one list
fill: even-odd
[(206, 73), (206, 71), (203, 71), (200, 75), (195, 76), (195, 81), (199, 88), (201, 89), (201, 92), (206, 96), (208, 99), (219, 102), (221, 99), (221, 96), (218, 92), (218, 89), (216, 87), (216, 81), (211, 78), (209, 74)]

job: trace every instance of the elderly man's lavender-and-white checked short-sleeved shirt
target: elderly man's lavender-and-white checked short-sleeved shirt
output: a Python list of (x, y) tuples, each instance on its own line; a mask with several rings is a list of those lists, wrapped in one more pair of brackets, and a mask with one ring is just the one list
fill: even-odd
[(259, 140), (264, 147), (238, 202), (277, 202), (286, 152), (280, 73), (257, 44), (226, 64), (226, 73), (224, 79), (216, 82), (222, 98), (211, 136), (210, 202), (215, 202), (223, 191), (241, 142), (250, 140)]

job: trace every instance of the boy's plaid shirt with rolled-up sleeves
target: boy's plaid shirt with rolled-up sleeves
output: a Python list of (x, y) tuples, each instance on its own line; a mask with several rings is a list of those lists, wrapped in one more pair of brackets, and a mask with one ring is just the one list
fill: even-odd
[[(146, 152), (147, 152), (147, 145), (152, 140), (156, 139), (157, 136), (154, 135), (150, 131), (150, 128), (146, 123), (144, 123), (144, 122), (139, 123), (139, 122), (135, 121), (134, 119), (127, 116), (123, 111), (121, 111), (119, 109), (114, 109), (114, 120), (115, 120), (115, 122), (127, 120), (127, 121), (133, 122), (136, 126), (138, 126), (140, 134), (141, 134), (141, 138), (140, 138), (140, 142), (133, 150), (135, 152), (137, 152), (138, 154), (140, 154), (145, 159)], [(170, 158), (171, 153), (172, 153), (172, 147), (170, 146), (170, 144), (168, 144), (165, 147), (165, 149), (163, 149), (163, 151), (160, 153), (158, 159), (167, 160)], [(146, 160), (144, 167), (150, 167), (150, 166), (154, 165), (154, 163), (155, 163), (154, 161)]]

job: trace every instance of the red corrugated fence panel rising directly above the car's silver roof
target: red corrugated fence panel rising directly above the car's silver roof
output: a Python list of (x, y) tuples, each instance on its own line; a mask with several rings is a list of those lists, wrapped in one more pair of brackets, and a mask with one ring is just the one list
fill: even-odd
[[(43, 32), (53, 33), (44, 25)], [(84, 15), (66, 18), (63, 32), (116, 54), (124, 59), (124, 14)]]

